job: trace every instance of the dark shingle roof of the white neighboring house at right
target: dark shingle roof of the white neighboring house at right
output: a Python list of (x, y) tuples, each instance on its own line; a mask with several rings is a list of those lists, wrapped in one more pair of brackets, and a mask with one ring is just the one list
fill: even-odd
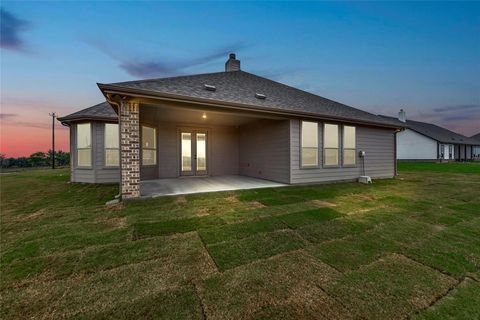
[(451, 144), (476, 144), (475, 140), (465, 137), (459, 133), (450, 131), (448, 129), (442, 128), (432, 123), (420, 122), (414, 120), (407, 120), (406, 122), (401, 122), (397, 118), (382, 116), (385, 119), (390, 119), (396, 121), (399, 124), (402, 123), (406, 128), (416, 131), (424, 136), (432, 138), (442, 143), (451, 143)]

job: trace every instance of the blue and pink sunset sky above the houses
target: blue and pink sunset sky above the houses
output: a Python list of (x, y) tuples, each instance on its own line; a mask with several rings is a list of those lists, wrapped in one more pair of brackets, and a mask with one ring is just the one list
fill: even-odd
[[(47, 151), (96, 83), (242, 69), (376, 114), (480, 131), (479, 2), (1, 4), (1, 145)], [(57, 122), (57, 149), (68, 128)]]

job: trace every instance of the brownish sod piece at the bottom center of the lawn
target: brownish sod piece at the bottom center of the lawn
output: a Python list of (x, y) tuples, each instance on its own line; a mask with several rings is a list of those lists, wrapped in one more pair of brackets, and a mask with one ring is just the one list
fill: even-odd
[(208, 319), (348, 319), (319, 288), (338, 276), (300, 250), (215, 275), (199, 291)]

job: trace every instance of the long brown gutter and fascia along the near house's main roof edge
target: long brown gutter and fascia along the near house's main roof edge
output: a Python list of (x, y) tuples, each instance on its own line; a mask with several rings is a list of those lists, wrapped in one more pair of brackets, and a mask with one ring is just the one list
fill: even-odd
[(187, 103), (194, 103), (194, 104), (200, 104), (200, 105), (208, 105), (212, 107), (228, 107), (230, 109), (238, 109), (238, 110), (244, 110), (244, 111), (273, 113), (273, 114), (285, 115), (290, 117), (304, 116), (308, 118), (315, 118), (315, 119), (322, 119), (322, 120), (366, 124), (366, 125), (382, 127), (382, 128), (402, 129), (401, 126), (396, 126), (393, 124), (389, 125), (389, 124), (382, 124), (382, 123), (369, 122), (369, 121), (355, 121), (349, 118), (321, 116), (321, 115), (310, 113), (310, 112), (299, 112), (299, 111), (288, 111), (288, 110), (280, 111), (278, 109), (267, 108), (267, 107), (260, 107), (260, 106), (252, 107), (251, 105), (247, 105), (243, 103), (223, 102), (218, 100), (194, 98), (194, 97), (182, 96), (182, 95), (171, 94), (171, 93), (152, 92), (150, 90), (125, 88), (125, 87), (115, 86), (111, 84), (97, 83), (97, 86), (100, 89), (100, 91), (102, 91), (103, 95), (105, 96), (108, 102), (111, 101), (109, 98), (111, 95), (115, 95), (115, 94), (132, 95), (139, 98), (150, 98), (150, 99), (173, 101), (173, 102), (187, 102)]

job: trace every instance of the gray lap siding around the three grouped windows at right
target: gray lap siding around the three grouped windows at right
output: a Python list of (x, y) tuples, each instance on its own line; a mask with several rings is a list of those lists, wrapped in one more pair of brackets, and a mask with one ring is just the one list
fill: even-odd
[[(300, 120), (291, 120), (291, 180), (292, 184), (353, 180), (361, 176), (362, 160), (357, 156), (356, 167), (323, 168), (323, 123), (319, 122), (319, 167), (300, 168)], [(339, 123), (341, 127), (341, 123)], [(357, 152), (366, 152), (365, 170), (372, 178), (391, 178), (395, 174), (394, 131), (356, 127)], [(342, 136), (340, 150), (342, 148)], [(341, 155), (341, 151), (340, 151)], [(341, 163), (340, 157), (340, 163)]]

